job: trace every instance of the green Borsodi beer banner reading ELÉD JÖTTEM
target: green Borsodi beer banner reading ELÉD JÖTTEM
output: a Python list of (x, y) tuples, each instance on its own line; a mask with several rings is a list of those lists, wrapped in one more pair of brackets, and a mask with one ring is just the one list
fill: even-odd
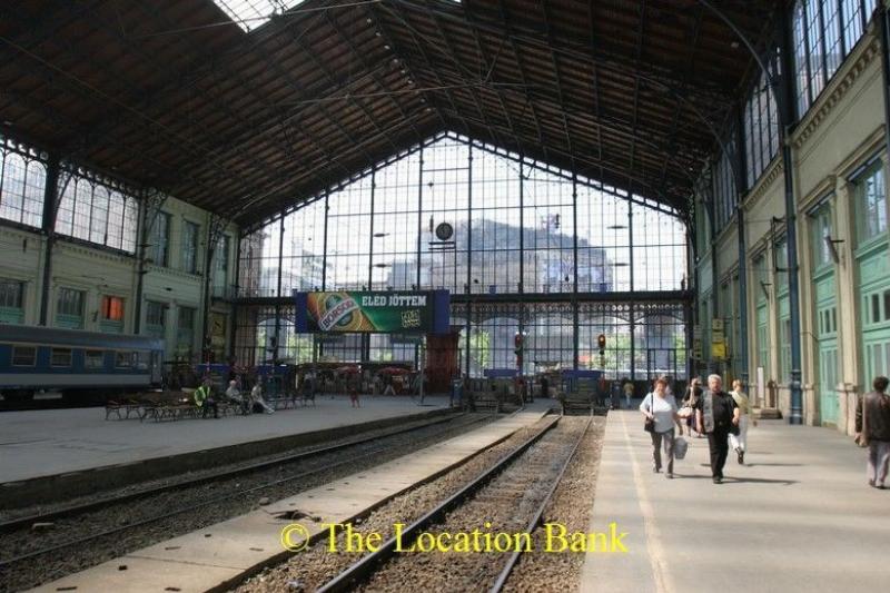
[(296, 293), (297, 332), (447, 333), (446, 290)]

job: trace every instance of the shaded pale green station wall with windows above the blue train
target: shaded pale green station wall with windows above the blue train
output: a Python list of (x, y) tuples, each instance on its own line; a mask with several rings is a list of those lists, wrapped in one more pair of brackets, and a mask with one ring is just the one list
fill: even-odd
[[(196, 360), (209, 307), (209, 347), (225, 357), (236, 227), (217, 235), (206, 288), (210, 213), (1, 141), (0, 323), (152, 335), (168, 360)], [(59, 198), (50, 228), (53, 168)]]

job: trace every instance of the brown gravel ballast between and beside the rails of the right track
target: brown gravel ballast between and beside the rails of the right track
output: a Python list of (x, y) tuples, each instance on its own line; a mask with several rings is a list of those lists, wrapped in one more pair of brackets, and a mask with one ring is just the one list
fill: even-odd
[[(548, 421), (542, 421), (548, 422)], [(522, 532), (552, 486), (552, 480), (577, 441), (587, 418), (565, 417), (560, 426), (533, 445), (517, 462), (483, 488), (468, 503), (448, 514), (442, 525), (428, 531), (458, 532), (492, 524), (491, 531)], [(593, 500), (595, 466), (599, 463), (604, 422), (596, 418), (582, 441), (577, 454), (563, 476), (545, 520), (563, 522), (570, 530), (584, 531)], [(453, 495), (497, 459), (515, 449), (541, 427), (541, 423), (514, 434), (506, 441), (473, 457), (448, 474), (393, 498), (354, 530), (393, 535), (395, 523), (411, 524)], [(552, 518), (551, 518), (552, 517)], [(287, 562), (264, 570), (245, 581), (237, 593), (315, 591), (334, 579), (360, 554), (332, 552), (325, 537), (296, 553)], [(336, 540), (336, 550), (345, 550), (345, 535)], [(534, 559), (526, 564), (526, 557)], [(571, 557), (567, 557), (571, 556)], [(397, 554), (364, 585), (366, 591), (478, 591), (487, 589), (506, 562), (498, 553), (416, 553)], [(553, 591), (577, 587), (581, 554), (524, 554), (508, 586), (518, 591)], [(571, 565), (571, 569), (566, 569)], [(552, 575), (560, 572), (557, 581)], [(515, 581), (515, 582), (514, 582)], [(556, 585), (556, 589), (554, 589)], [(563, 586), (565, 585), (565, 586)]]

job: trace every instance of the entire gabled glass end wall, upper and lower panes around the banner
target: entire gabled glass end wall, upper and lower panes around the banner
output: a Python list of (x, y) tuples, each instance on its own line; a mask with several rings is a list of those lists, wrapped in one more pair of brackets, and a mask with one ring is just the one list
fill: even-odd
[[(256, 297), (444, 288), (461, 368), (473, 376), (515, 368), (517, 332), (525, 373), (577, 365), (611, 377), (684, 376), (679, 298), (613, 304), (592, 295), (681, 290), (686, 269), (685, 226), (665, 206), (448, 134), (241, 238), (235, 354), (265, 359), (277, 327), (279, 357), (313, 359), (313, 337), (294, 334), (293, 306)], [(406, 337), (316, 340), (324, 359), (417, 359)]]

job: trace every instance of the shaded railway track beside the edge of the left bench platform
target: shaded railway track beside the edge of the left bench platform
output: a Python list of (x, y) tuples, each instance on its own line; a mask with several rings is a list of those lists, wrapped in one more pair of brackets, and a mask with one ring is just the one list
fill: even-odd
[[(281, 491), (277, 497), (284, 497), (281, 494), (290, 495), (295, 492), (295, 483), (299, 484), (298, 490), (304, 490), (316, 482), (324, 482), (325, 476), (348, 472), (356, 465), (373, 465), (380, 458), (399, 456), (404, 452), (406, 439), (413, 446), (424, 446), (459, 434), (490, 418), (491, 416), (482, 415), (436, 418), (194, 480), (6, 521), (0, 524), (0, 533), (3, 534), (0, 548), (6, 556), (0, 557), (0, 590), (14, 591), (32, 586), (47, 579), (41, 575), (58, 577), (115, 557), (126, 552), (121, 550), (119, 542), (132, 542), (127, 547), (135, 548), (200, 528), (248, 511), (256, 505), (255, 501), (260, 495), (275, 500), (276, 492)], [(312, 466), (307, 467), (308, 463)], [(226, 483), (229, 487), (226, 487)], [(168, 507), (170, 498), (196, 502)], [(164, 511), (158, 512), (157, 508)], [(218, 512), (220, 508), (224, 510), (222, 513)], [(109, 516), (111, 510), (119, 516)], [(197, 521), (197, 526), (196, 517), (204, 518)], [(182, 523), (177, 524), (177, 521)], [(63, 542), (53, 538), (50, 545), (34, 546), (32, 526), (52, 522), (56, 524), (51, 533), (67, 534), (72, 525), (73, 531), (82, 533)], [(165, 524), (166, 527), (162, 526)], [(131, 537), (134, 534), (138, 536)], [(14, 538), (19, 540), (19, 546), (12, 543)], [(98, 548), (95, 554), (89, 554), (91, 546)], [(76, 561), (71, 561), (72, 555)], [(47, 569), (43, 566), (44, 561), (55, 566)], [(29, 577), (30, 574), (33, 577)]]

